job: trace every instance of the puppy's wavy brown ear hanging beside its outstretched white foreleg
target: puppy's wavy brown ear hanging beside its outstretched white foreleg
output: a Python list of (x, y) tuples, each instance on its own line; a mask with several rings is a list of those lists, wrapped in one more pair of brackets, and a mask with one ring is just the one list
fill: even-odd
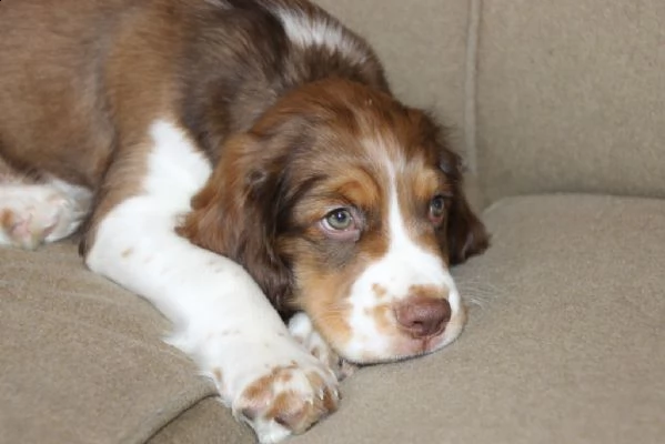
[(278, 310), (291, 293), (291, 272), (275, 250), (281, 165), (242, 134), (224, 147), (178, 233), (240, 263)]

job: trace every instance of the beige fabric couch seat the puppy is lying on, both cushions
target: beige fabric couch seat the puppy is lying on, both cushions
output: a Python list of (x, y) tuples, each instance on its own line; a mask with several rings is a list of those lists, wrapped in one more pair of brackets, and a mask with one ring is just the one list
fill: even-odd
[[(455, 270), (459, 342), (363, 369), (294, 444), (657, 443), (665, 435), (665, 202), (503, 200), (483, 256)], [(0, 250), (2, 443), (251, 443), (168, 324), (71, 244)], [(11, 406), (11, 407), (9, 407)]]

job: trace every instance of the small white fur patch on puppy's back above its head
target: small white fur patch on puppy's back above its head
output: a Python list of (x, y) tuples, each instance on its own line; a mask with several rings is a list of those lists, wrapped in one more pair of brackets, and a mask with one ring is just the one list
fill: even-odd
[(275, 8), (289, 39), (302, 47), (323, 47), (331, 51), (340, 51), (356, 63), (362, 63), (366, 54), (357, 47), (337, 23), (322, 17), (310, 17), (295, 8)]

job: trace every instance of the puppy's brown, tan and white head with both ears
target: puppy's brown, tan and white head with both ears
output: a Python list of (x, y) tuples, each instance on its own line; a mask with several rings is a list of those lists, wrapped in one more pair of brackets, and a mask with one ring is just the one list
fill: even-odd
[(465, 320), (449, 266), (487, 246), (460, 163), (423, 112), (313, 83), (226, 142), (181, 233), (306, 312), (346, 360), (432, 352)]

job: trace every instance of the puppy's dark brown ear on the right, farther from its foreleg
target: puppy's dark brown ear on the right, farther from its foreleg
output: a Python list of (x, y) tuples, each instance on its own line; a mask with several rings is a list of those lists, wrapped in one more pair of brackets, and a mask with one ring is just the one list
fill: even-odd
[(484, 252), (490, 245), (490, 235), (466, 199), (462, 158), (445, 148), (442, 152), (441, 169), (453, 185), (445, 233), (446, 245), (451, 264), (457, 264)]

